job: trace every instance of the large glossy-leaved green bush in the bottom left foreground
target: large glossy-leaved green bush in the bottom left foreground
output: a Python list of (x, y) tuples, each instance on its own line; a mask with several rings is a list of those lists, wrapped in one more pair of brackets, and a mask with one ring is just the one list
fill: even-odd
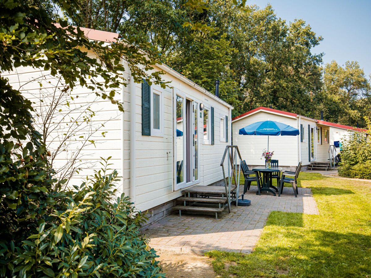
[(0, 242), (3, 277), (163, 276), (139, 230), (144, 214), (124, 194), (115, 202), (118, 173), (107, 170), (66, 192), (27, 239)]

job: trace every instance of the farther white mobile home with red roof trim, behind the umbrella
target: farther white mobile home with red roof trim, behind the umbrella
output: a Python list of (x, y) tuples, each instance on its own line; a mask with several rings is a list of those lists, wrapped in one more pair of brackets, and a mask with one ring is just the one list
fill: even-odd
[[(241, 156), (248, 165), (264, 164), (261, 155), (263, 149), (267, 148), (268, 136), (239, 135), (239, 130), (264, 120), (285, 123), (299, 129), (299, 136), (269, 136), (269, 151), (274, 151), (273, 159), (278, 159), (280, 166), (290, 169), (295, 169), (300, 161), (303, 170), (308, 169), (313, 163), (328, 162), (329, 148), (334, 142), (341, 141), (341, 138), (349, 132), (365, 131), (296, 113), (258, 107), (232, 119), (233, 145), (239, 147)], [(338, 153), (339, 148), (335, 149)]]

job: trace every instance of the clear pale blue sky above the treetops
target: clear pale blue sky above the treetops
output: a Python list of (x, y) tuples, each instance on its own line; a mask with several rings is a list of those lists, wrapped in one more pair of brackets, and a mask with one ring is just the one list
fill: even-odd
[(367, 78), (371, 74), (371, 0), (250, 0), (264, 8), (270, 3), (286, 22), (303, 19), (322, 42), (312, 53), (325, 53), (324, 63), (358, 61)]

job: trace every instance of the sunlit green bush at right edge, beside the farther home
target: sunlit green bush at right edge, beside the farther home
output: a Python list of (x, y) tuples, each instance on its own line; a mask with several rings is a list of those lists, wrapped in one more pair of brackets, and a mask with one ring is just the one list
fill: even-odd
[(343, 138), (339, 175), (371, 179), (371, 143), (363, 133), (354, 133)]

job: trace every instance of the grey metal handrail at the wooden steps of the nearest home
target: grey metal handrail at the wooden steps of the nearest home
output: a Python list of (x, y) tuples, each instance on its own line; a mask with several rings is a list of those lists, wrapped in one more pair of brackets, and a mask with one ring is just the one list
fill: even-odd
[[(228, 155), (228, 184), (227, 184), (227, 178), (226, 178), (226, 172), (224, 169), (224, 160), (226, 156)], [(237, 171), (237, 156), (239, 158), (238, 160), (238, 180), (236, 177), (236, 171)], [(241, 173), (241, 154), (240, 150), (238, 149), (238, 146), (230, 145), (226, 146), (226, 149), (224, 150), (223, 158), (221, 159), (220, 166), (223, 170), (223, 181), (224, 181), (224, 187), (226, 188), (226, 195), (227, 195), (227, 203), (228, 203), (228, 211), (231, 212), (231, 185), (234, 180), (234, 184), (236, 185), (236, 206), (238, 205), (238, 195), (239, 195), (239, 187), (240, 187), (240, 173)]]

